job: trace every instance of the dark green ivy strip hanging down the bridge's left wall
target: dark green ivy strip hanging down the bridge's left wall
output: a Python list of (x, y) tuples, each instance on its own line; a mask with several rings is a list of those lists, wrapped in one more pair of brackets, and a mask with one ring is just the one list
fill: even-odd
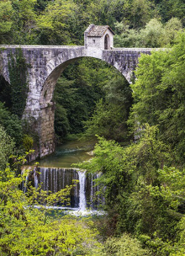
[(26, 105), (28, 84), (26, 81), (28, 64), (23, 56), (23, 51), (18, 48), (15, 53), (9, 54), (8, 72), (10, 79), (11, 112), (22, 117)]

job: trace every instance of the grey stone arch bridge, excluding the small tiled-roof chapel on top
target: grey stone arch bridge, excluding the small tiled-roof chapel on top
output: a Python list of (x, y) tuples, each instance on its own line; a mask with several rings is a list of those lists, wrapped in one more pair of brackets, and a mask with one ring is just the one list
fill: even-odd
[[(33, 117), (34, 129), (40, 137), (40, 147), (35, 156), (44, 157), (55, 150), (54, 115), (52, 101), (57, 79), (61, 72), (73, 61), (82, 57), (97, 58), (114, 66), (129, 81), (141, 53), (151, 54), (153, 49), (122, 48), (103, 50), (85, 46), (43, 46), (43, 45), (1, 45), (0, 74), (9, 81), (8, 55), (21, 48), (29, 63), (29, 93), (24, 109), (24, 117)], [(62, 93), (62, 92), (61, 92)]]

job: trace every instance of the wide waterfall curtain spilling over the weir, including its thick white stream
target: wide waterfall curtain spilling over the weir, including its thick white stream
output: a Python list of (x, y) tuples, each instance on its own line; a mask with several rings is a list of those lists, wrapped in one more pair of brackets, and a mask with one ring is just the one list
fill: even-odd
[[(87, 206), (95, 209), (98, 205), (98, 200), (93, 200), (98, 191), (94, 181), (97, 178), (97, 174), (86, 174), (85, 171), (74, 168), (34, 168), (29, 172), (27, 180), (33, 179), (35, 188), (40, 184), (41, 189), (54, 193), (65, 189), (66, 185), (75, 184), (71, 189), (70, 204), (63, 206), (86, 211)], [(25, 190), (25, 186), (23, 189)]]

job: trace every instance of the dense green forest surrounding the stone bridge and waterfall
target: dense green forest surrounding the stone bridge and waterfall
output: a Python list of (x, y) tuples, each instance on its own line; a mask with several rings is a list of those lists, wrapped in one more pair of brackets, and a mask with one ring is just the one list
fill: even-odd
[(38, 136), (22, 119), (29, 63), (21, 51), (10, 56), (10, 84), (0, 76), (1, 255), (185, 255), (184, 17), (184, 0), (0, 2), (1, 45), (83, 45), (89, 24), (108, 24), (114, 47), (161, 48), (140, 57), (131, 84), (92, 58), (56, 84), (56, 142), (98, 140), (92, 160), (78, 164), (102, 173), (106, 216), (90, 220), (50, 217), (45, 205), (67, 200), (71, 187), (19, 188)]

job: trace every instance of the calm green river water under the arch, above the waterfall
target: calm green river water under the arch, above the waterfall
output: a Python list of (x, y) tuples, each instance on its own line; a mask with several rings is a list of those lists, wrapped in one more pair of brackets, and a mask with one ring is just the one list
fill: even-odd
[(96, 141), (67, 141), (56, 152), (38, 161), (42, 167), (70, 168), (72, 163), (87, 161), (92, 158)]

